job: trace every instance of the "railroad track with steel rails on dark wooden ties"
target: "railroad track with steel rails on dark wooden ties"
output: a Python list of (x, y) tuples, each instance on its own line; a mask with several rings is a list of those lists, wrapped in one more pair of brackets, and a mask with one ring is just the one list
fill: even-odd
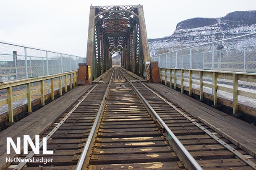
[(20, 156), (52, 162), (8, 170), (253, 170), (246, 152), (127, 72), (114, 68), (106, 78), (109, 84), (94, 85), (40, 136), (51, 135), (53, 155)]

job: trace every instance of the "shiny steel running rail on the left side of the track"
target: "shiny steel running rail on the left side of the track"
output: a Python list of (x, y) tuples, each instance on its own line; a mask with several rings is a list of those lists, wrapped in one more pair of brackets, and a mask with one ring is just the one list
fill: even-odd
[(76, 169), (75, 170), (81, 170), (83, 165), (84, 165), (85, 157), (86, 157), (87, 152), (89, 150), (89, 145), (91, 144), (91, 140), (92, 140), (92, 137), (93, 137), (93, 135), (95, 133), (96, 126), (97, 126), (97, 124), (99, 122), (99, 118), (101, 116), (101, 113), (102, 113), (102, 110), (103, 110), (103, 106), (104, 106), (104, 103), (105, 103), (108, 91), (109, 91), (111, 83), (112, 83), (112, 76), (113, 76), (114, 72), (115, 72), (115, 68), (114, 68), (114, 70), (112, 72), (112, 75), (111, 75), (111, 78), (110, 78), (110, 82), (109, 82), (109, 84), (107, 86), (106, 92), (104, 94), (104, 97), (102, 99), (102, 103), (101, 103), (100, 108), (99, 108), (99, 111), (98, 111), (97, 116), (96, 116), (96, 118), (94, 120), (94, 123), (93, 123), (93, 125), (91, 127), (91, 131), (90, 131), (89, 136), (88, 136), (88, 138), (86, 140), (86, 143), (84, 145), (84, 149), (83, 149), (83, 151), (81, 153), (81, 156), (80, 156), (80, 158), (78, 160), (78, 163), (76, 165)]

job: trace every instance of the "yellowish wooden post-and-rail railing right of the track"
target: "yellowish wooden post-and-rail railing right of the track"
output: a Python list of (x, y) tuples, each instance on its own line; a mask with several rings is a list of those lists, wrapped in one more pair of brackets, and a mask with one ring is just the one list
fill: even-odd
[[(214, 106), (218, 104), (218, 92), (225, 91), (228, 93), (231, 93), (233, 95), (233, 101), (232, 101), (232, 108), (233, 113), (238, 112), (238, 95), (240, 96), (246, 96), (250, 99), (256, 99), (256, 74), (254, 73), (240, 73), (240, 72), (227, 72), (227, 71), (213, 71), (213, 70), (195, 70), (195, 69), (175, 69), (175, 68), (159, 68), (160, 73), (160, 79), (161, 83), (165, 82), (165, 85), (170, 84), (173, 85), (174, 89), (177, 88), (177, 86), (180, 87), (181, 93), (184, 93), (184, 89), (189, 92), (189, 94), (192, 94), (192, 90), (199, 91), (198, 95), (200, 96), (200, 99), (203, 99), (206, 97), (204, 95), (203, 87), (208, 87), (213, 89), (213, 101)], [(173, 75), (172, 75), (173, 74)], [(184, 74), (186, 74), (187, 78), (184, 78)], [(211, 82), (203, 81), (204, 78), (209, 78), (212, 80)], [(167, 80), (167, 78), (169, 80)], [(220, 86), (218, 84), (219, 79), (221, 81), (224, 81), (227, 84), (230, 84), (228, 86)], [(180, 81), (180, 84), (177, 84), (177, 80)], [(188, 82), (188, 86), (184, 86), (184, 82)], [(193, 87), (192, 84), (199, 85), (198, 87)], [(255, 88), (252, 89), (252, 91), (246, 91), (246, 88), (238, 89), (238, 85), (248, 85), (253, 86)], [(254, 92), (253, 92), (254, 91)], [(209, 98), (209, 96), (207, 97)], [(240, 107), (240, 106), (239, 106)], [(249, 112), (243, 109), (243, 112)], [(253, 111), (254, 112), (254, 111)], [(256, 115), (256, 113), (249, 113), (252, 115)]]

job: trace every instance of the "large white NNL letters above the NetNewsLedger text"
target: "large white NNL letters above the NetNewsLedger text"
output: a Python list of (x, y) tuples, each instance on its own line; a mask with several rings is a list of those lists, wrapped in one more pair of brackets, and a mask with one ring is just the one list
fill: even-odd
[[(24, 154), (28, 154), (28, 143), (30, 145), (30, 147), (32, 148), (32, 150), (34, 151), (35, 154), (39, 154), (39, 150), (40, 150), (40, 139), (39, 139), (39, 135), (36, 135), (35, 137), (35, 144), (33, 143), (33, 141), (31, 140), (31, 138), (29, 137), (29, 135), (24, 135), (23, 137), (24, 140)], [(53, 150), (47, 150), (47, 138), (43, 137), (43, 154), (53, 154)], [(10, 145), (12, 145), (13, 150), (16, 152), (16, 154), (21, 154), (21, 138), (17, 137), (17, 146), (15, 145), (15, 143), (13, 142), (13, 139), (11, 137), (7, 137), (7, 141), (6, 141), (6, 147), (7, 147), (7, 154), (10, 154)]]

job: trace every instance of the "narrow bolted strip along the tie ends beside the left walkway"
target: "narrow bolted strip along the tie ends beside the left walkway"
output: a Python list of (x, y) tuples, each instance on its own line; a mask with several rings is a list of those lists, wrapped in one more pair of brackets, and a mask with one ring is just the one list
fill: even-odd
[[(47, 134), (46, 136), (46, 140), (49, 140), (50, 137), (52, 137), (52, 135), (57, 131), (57, 129), (59, 129), (59, 127), (65, 122), (66, 119), (68, 119), (68, 117), (76, 110), (76, 108), (84, 101), (84, 99), (86, 99), (86, 97), (91, 93), (91, 91), (97, 86), (94, 85), (88, 92), (87, 94), (78, 102), (78, 104), (76, 104), (73, 109), (68, 112), (68, 114), (51, 130), (50, 133)], [(39, 148), (41, 148), (43, 146), (43, 140), (39, 143)], [(35, 155), (34, 151), (31, 151), (26, 157), (25, 159), (30, 159)], [(24, 162), (20, 162), (15, 168), (13, 168), (13, 170), (21, 170), (25, 165), (27, 164), (26, 161)]]

